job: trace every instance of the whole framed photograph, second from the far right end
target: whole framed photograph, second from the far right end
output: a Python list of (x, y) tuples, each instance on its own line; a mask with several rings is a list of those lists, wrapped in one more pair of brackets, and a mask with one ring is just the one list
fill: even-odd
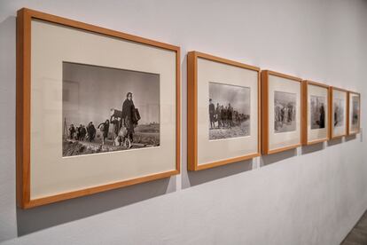
[(347, 91), (330, 87), (330, 138), (347, 135)]

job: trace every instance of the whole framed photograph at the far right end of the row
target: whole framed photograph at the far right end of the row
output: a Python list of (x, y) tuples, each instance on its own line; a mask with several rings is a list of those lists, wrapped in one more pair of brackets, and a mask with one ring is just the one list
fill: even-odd
[(358, 92), (348, 91), (348, 123), (347, 134), (359, 133), (361, 127), (361, 95)]

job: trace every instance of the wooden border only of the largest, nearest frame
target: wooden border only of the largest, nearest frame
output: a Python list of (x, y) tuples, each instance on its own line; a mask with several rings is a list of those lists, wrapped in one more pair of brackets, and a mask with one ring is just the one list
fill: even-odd
[[(107, 37), (119, 38), (134, 43), (141, 43), (162, 50), (176, 52), (176, 170), (154, 173), (152, 175), (131, 178), (121, 182), (76, 190), (70, 193), (56, 194), (40, 199), (30, 200), (30, 94), (31, 94), (31, 21), (43, 20), (50, 23), (77, 28)], [(180, 173), (180, 122), (181, 122), (181, 92), (180, 92), (180, 47), (167, 43), (160, 43), (139, 36), (132, 36), (107, 28), (100, 28), (75, 20), (68, 20), (44, 12), (37, 12), (26, 8), (20, 9), (17, 14), (17, 134), (16, 134), (16, 162), (17, 162), (17, 204), (20, 208), (28, 209), (35, 206), (59, 202), (79, 196), (96, 194), (122, 186), (131, 186), (138, 183), (152, 181), (159, 178), (168, 178)]]

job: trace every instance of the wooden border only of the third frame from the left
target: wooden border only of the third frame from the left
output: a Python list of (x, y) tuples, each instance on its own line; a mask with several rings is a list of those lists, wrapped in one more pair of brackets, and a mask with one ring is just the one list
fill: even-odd
[[(294, 83), (300, 83), (300, 95), (302, 95), (302, 79), (293, 75), (285, 75), (282, 73), (278, 73), (270, 70), (262, 70), (262, 154), (277, 154), (286, 150), (291, 150), (301, 146), (300, 143), (294, 144), (292, 146), (285, 146), (277, 149), (270, 150), (269, 149), (269, 75), (274, 75), (278, 77), (282, 77), (285, 79), (289, 79)], [(302, 99), (301, 99), (301, 110), (302, 110)], [(301, 119), (301, 129), (302, 129), (302, 118)], [(300, 129), (300, 139), (301, 132)]]

